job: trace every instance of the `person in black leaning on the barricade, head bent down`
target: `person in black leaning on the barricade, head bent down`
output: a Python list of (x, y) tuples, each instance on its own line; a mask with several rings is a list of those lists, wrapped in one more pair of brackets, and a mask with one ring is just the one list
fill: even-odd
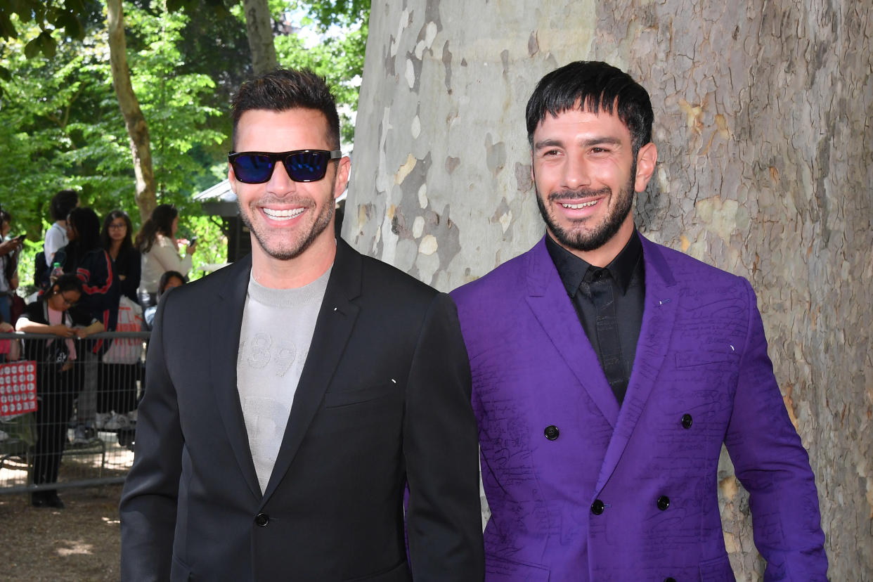
[[(76, 340), (103, 331), (100, 321), (77, 305), (81, 297), (79, 278), (61, 275), (38, 301), (25, 307), (17, 321), (19, 332), (58, 336), (24, 342), (25, 359), (37, 361), (38, 441), (33, 460), (36, 485), (58, 481), (72, 401), (81, 386), (81, 366), (76, 366), (80, 345)], [(64, 507), (58, 491), (53, 489), (35, 491), (31, 503), (34, 507)]]

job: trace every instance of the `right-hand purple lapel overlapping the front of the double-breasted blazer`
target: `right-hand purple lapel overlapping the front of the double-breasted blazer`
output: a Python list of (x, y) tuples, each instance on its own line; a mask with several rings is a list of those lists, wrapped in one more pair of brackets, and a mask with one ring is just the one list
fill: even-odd
[(657, 375), (663, 367), (664, 358), (667, 356), (673, 323), (676, 320), (679, 296), (676, 280), (670, 273), (670, 266), (655, 243), (651, 243), (642, 235), (640, 241), (643, 243), (646, 281), (643, 325), (640, 327), (640, 338), (636, 345), (634, 369), (630, 373), (628, 392), (624, 397), (615, 431), (603, 459), (595, 496), (615, 471), (615, 466), (628, 445), (630, 435), (636, 428), (636, 422), (640, 414), (643, 414), (643, 407), (649, 399)]

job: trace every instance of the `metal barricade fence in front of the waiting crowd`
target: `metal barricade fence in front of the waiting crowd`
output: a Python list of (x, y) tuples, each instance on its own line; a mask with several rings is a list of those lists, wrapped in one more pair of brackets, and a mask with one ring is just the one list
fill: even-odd
[(0, 494), (124, 481), (148, 337), (0, 333)]

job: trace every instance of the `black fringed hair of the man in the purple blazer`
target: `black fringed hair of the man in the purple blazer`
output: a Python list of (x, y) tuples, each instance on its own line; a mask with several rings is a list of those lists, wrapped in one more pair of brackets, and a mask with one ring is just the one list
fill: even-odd
[(527, 101), (527, 140), (533, 147), (533, 130), (546, 119), (571, 109), (615, 113), (630, 132), (633, 153), (652, 140), (652, 104), (649, 93), (630, 75), (601, 61), (576, 61), (540, 79)]

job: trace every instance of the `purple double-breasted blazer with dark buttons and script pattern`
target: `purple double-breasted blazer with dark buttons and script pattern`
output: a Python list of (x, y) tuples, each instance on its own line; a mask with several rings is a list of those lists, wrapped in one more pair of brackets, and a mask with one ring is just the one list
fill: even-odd
[(643, 325), (621, 407), (545, 240), (452, 292), (491, 507), (487, 582), (733, 580), (722, 443), (766, 580), (826, 580), (813, 473), (751, 285), (641, 239)]

